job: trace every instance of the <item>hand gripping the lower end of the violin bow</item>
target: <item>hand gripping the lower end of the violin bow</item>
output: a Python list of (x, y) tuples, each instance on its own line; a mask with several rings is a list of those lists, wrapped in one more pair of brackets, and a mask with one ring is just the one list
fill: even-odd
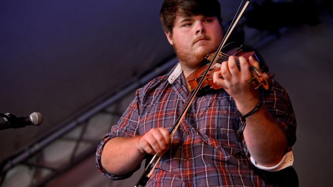
[(165, 128), (149, 130), (139, 137), (138, 149), (141, 153), (157, 154), (161, 157), (170, 146), (170, 134)]

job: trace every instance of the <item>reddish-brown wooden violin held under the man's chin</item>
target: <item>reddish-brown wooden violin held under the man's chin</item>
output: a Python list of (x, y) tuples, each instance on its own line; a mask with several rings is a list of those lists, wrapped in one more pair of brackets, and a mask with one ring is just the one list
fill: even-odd
[[(225, 45), (225, 47), (227, 47), (228, 45), (231, 45), (231, 44), (232, 43), (227, 44), (227, 45)], [(245, 59), (247, 59), (247, 60), (249, 60), (250, 56), (253, 56), (257, 61), (259, 61), (258, 58), (256, 57), (255, 53), (246, 52), (243, 45), (241, 45), (238, 48), (232, 48), (231, 50), (229, 50), (227, 52), (224, 52), (223, 49), (221, 52), (219, 52), (217, 54), (216, 60), (213, 62), (212, 66), (208, 70), (205, 77), (203, 77), (203, 75), (204, 75), (205, 71), (207, 70), (209, 63), (212, 62), (213, 56), (217, 52), (208, 54), (205, 59), (207, 61), (207, 64), (200, 67), (199, 69), (194, 71), (191, 75), (189, 75), (186, 78), (186, 80), (190, 84), (189, 90), (193, 91), (193, 89), (196, 88), (196, 86), (198, 85), (198, 83), (201, 79), (204, 79), (204, 80), (203, 80), (202, 84), (200, 85), (199, 93), (207, 92), (212, 89), (214, 89), (214, 90), (221, 89), (222, 88), (221, 86), (219, 86), (213, 82), (213, 74), (214, 74), (214, 72), (220, 71), (221, 63), (223, 61), (228, 60), (228, 57), (231, 55), (236, 56), (236, 65), (238, 66), (238, 69), (240, 69), (240, 64), (239, 64), (239, 60), (238, 60), (238, 58), (240, 56), (245, 57)], [(274, 77), (274, 74), (267, 73), (267, 71), (268, 71), (268, 69), (257, 70), (255, 67), (250, 66), (250, 72), (251, 72), (252, 79), (248, 83), (250, 83), (254, 80), (257, 83), (257, 86), (255, 87), (255, 89), (258, 89), (260, 86), (262, 86), (266, 90), (269, 89), (269, 87), (272, 85), (271, 78)], [(222, 76), (220, 78), (222, 78)]]

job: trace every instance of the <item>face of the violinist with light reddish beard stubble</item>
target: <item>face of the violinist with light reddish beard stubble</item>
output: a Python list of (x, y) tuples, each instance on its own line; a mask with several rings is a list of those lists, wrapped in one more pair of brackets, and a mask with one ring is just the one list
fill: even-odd
[[(197, 69), (207, 54), (214, 53), (222, 42), (222, 27), (216, 17), (177, 15), (173, 33), (167, 39), (182, 65)], [(201, 65), (200, 65), (201, 66)]]

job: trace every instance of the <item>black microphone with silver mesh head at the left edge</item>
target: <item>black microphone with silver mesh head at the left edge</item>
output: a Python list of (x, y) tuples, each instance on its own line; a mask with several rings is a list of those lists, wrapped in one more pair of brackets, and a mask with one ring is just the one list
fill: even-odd
[(7, 122), (0, 124), (0, 130), (3, 129), (17, 129), (17, 128), (23, 128), (27, 125), (34, 125), (38, 126), (42, 124), (43, 122), (43, 115), (39, 112), (33, 112), (27, 117), (16, 117), (13, 114), (6, 113), (6, 117), (3, 117)]

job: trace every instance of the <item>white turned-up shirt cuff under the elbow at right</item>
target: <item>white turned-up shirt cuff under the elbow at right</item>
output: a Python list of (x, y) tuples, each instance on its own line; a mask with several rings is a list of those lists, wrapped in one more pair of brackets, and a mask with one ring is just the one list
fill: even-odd
[(259, 169), (265, 170), (265, 171), (279, 171), (281, 169), (284, 169), (286, 167), (292, 166), (294, 163), (294, 155), (293, 152), (290, 151), (288, 153), (286, 153), (285, 155), (283, 155), (282, 160), (275, 166), (272, 167), (265, 167), (263, 165), (258, 164), (253, 158), (252, 156), (250, 157), (251, 162)]

